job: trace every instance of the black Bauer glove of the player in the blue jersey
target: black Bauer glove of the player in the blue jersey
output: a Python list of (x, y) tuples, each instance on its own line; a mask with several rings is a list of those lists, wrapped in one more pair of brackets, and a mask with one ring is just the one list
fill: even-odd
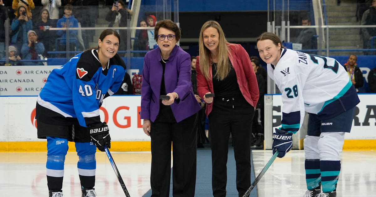
[(100, 151), (105, 151), (105, 144), (108, 148), (111, 148), (111, 137), (108, 132), (108, 125), (106, 125), (105, 122), (90, 125), (89, 127), (91, 142), (95, 144)]

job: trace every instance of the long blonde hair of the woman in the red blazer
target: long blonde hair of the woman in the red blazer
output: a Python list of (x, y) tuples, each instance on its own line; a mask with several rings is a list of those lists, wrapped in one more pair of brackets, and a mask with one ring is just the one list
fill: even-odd
[(229, 49), (227, 47), (229, 42), (227, 42), (226, 38), (224, 37), (222, 27), (217, 21), (206, 21), (206, 23), (204, 23), (201, 27), (200, 41), (199, 41), (200, 70), (202, 74), (205, 76), (206, 80), (212, 80), (212, 78), (210, 78), (210, 72), (209, 72), (209, 69), (211, 68), (211, 63), (212, 63), (212, 60), (209, 59), (210, 50), (205, 47), (204, 39), (203, 39), (203, 32), (209, 27), (214, 27), (215, 29), (217, 29), (218, 34), (219, 34), (218, 64), (217, 64), (217, 73), (215, 74), (215, 76), (219, 80), (223, 80), (224, 78), (227, 77), (231, 69), (231, 66), (229, 64), (229, 55), (228, 55)]

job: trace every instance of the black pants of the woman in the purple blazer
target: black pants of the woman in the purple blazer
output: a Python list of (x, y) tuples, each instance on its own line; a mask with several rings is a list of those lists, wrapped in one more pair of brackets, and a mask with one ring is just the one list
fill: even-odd
[(151, 123), (152, 170), (150, 185), (152, 197), (168, 197), (171, 176), (171, 142), (173, 149), (173, 196), (194, 197), (196, 185), (197, 114), (178, 123)]

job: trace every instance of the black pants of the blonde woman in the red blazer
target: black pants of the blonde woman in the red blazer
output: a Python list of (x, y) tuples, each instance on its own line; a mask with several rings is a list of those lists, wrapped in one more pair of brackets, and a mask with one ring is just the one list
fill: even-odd
[(226, 196), (226, 164), (230, 133), (232, 134), (236, 162), (236, 185), (240, 197), (244, 195), (251, 184), (250, 139), (254, 113), (255, 108), (242, 96), (214, 98), (213, 110), (208, 116), (211, 132), (214, 197)]

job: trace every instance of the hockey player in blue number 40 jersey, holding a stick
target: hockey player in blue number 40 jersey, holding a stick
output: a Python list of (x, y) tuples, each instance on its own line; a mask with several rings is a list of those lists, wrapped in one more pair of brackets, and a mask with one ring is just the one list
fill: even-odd
[(68, 141), (74, 141), (79, 161), (82, 197), (95, 197), (96, 148), (111, 147), (109, 129), (101, 122), (103, 99), (119, 89), (126, 66), (117, 54), (120, 36), (104, 30), (98, 48), (72, 57), (53, 69), (36, 103), (38, 138), (47, 139), (49, 197), (62, 197)]

